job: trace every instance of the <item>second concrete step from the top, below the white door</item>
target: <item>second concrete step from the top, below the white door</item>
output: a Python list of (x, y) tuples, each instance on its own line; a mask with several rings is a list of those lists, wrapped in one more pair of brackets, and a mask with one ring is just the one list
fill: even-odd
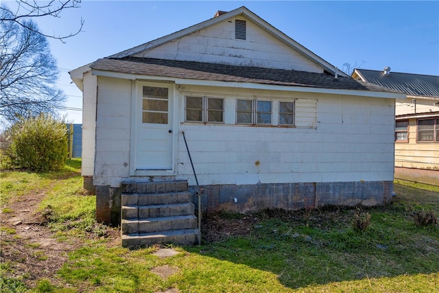
[(163, 194), (122, 194), (122, 205), (182, 204), (191, 202), (187, 191)]

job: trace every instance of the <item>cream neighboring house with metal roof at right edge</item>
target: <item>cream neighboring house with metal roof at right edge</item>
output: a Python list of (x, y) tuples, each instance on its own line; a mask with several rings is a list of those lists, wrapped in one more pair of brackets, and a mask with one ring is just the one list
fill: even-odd
[(353, 78), (401, 91), (396, 99), (395, 178), (439, 186), (439, 76), (355, 69)]

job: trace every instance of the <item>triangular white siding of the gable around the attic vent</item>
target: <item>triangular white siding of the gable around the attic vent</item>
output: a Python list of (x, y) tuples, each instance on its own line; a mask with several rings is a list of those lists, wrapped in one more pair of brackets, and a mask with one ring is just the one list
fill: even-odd
[(246, 40), (235, 39), (233, 19), (231, 22), (218, 23), (136, 56), (323, 72), (318, 65), (285, 46), (257, 25), (250, 21), (246, 21), (246, 25)]

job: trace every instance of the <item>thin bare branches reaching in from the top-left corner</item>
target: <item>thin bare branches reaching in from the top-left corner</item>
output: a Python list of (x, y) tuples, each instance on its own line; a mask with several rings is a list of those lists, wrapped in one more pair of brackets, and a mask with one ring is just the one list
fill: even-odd
[(12, 10), (6, 5), (0, 6), (0, 23), (12, 22), (20, 25), (21, 27), (27, 28), (37, 34), (45, 36), (47, 38), (56, 38), (61, 40), (62, 43), (65, 42), (66, 38), (70, 38), (79, 34), (84, 25), (84, 20), (81, 19), (80, 27), (77, 31), (61, 36), (56, 36), (55, 34), (49, 35), (38, 30), (34, 27), (28, 25), (28, 20), (36, 17), (52, 16), (59, 18), (62, 11), (69, 8), (79, 8), (81, 0), (51, 0), (48, 2), (37, 1), (37, 0), (16, 0), (16, 9)]

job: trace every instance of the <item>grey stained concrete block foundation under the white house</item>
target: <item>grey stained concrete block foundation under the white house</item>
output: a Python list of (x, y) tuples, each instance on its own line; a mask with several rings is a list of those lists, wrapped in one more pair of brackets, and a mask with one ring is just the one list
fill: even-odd
[[(223, 210), (246, 213), (268, 208), (299, 210), (331, 205), (379, 206), (390, 202), (393, 182), (259, 183), (206, 185), (202, 189), (203, 212)], [(198, 204), (198, 191), (198, 187), (189, 186), (191, 201), (195, 206)], [(96, 187), (96, 218), (106, 224), (120, 224), (121, 188), (108, 185)]]

